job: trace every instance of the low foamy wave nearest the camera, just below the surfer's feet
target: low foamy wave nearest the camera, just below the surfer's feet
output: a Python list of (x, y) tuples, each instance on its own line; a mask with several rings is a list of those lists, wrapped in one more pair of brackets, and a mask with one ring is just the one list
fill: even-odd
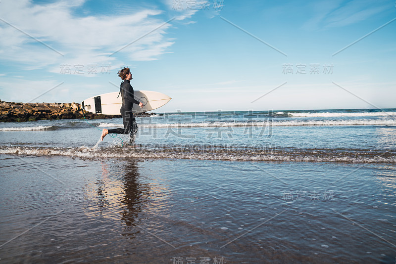
[(275, 146), (154, 145), (97, 148), (1, 146), (0, 154), (55, 155), (80, 158), (199, 159), (229, 161), (301, 161), (343, 163), (396, 163), (395, 151), (287, 150)]

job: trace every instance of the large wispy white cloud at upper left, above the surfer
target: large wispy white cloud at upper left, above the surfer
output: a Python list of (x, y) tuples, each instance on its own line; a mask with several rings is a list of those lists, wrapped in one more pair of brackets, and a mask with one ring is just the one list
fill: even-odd
[[(58, 73), (60, 64), (118, 65), (123, 60), (153, 60), (173, 44), (165, 37), (171, 24), (164, 24), (166, 20), (159, 17), (161, 10), (142, 9), (128, 15), (74, 15), (73, 9), (83, 3), (2, 2), (0, 18), (6, 23), (0, 21), (1, 59), (26, 69), (49, 66), (50, 72)], [(158, 29), (142, 38), (155, 28)]]

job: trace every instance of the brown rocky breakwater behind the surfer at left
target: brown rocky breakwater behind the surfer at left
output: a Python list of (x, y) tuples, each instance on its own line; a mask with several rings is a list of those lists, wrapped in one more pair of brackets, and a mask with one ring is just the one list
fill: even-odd
[[(80, 104), (72, 103), (14, 103), (0, 100), (0, 122), (25, 122), (36, 120), (83, 119)], [(153, 113), (151, 113), (153, 114)], [(117, 118), (121, 115), (101, 115), (84, 111), (86, 119)], [(148, 113), (137, 116), (150, 116)]]

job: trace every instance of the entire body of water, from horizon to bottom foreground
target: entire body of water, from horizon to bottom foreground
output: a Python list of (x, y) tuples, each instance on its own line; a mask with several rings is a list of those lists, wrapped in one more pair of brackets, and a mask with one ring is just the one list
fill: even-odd
[(396, 263), (396, 109), (136, 119), (0, 123), (0, 262)]

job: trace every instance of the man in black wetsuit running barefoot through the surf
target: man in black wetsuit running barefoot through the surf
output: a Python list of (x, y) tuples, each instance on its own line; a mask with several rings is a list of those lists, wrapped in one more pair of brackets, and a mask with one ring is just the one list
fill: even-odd
[(124, 129), (103, 129), (100, 140), (103, 141), (103, 137), (105, 137), (106, 134), (130, 134), (130, 142), (132, 143), (135, 140), (135, 135), (138, 131), (138, 124), (136, 124), (136, 120), (132, 113), (133, 104), (138, 104), (142, 108), (143, 103), (139, 102), (134, 97), (133, 88), (131, 86), (132, 74), (129, 68), (122, 68), (121, 70), (119, 70), (118, 77), (121, 77), (122, 79), (122, 83), (120, 86), (120, 93), (122, 98), (120, 112), (122, 115), (122, 120), (124, 122)]

